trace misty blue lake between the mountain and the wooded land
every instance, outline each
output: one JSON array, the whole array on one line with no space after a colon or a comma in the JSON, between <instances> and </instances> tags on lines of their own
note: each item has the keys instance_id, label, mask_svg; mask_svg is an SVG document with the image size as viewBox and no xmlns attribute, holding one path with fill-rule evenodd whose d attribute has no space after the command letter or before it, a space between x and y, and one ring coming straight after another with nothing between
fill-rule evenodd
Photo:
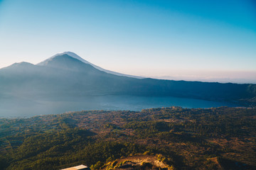
<instances>
[{"instance_id":1,"label":"misty blue lake between the mountain and the wooded land","mask_svg":"<svg viewBox=\"0 0 256 170\"><path fill-rule=\"evenodd\" d=\"M144 108L181 106L183 108L211 108L220 106L235 107L233 103L204 101L192 98L141 97L141 96L73 96L50 100L29 100L27 98L0 99L0 117L31 117L34 115L58 114L82 110L129 110L141 111Z\"/></svg>"}]
</instances>

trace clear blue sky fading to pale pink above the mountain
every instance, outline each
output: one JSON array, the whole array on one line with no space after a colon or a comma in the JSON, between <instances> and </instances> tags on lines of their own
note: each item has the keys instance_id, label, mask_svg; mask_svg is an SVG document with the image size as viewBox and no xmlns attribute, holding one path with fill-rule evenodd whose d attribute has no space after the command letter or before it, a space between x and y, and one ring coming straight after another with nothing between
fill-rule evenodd
<instances>
[{"instance_id":1,"label":"clear blue sky fading to pale pink above the mountain","mask_svg":"<svg viewBox=\"0 0 256 170\"><path fill-rule=\"evenodd\" d=\"M256 82L256 1L0 0L0 68L65 51L125 74Z\"/></svg>"}]
</instances>

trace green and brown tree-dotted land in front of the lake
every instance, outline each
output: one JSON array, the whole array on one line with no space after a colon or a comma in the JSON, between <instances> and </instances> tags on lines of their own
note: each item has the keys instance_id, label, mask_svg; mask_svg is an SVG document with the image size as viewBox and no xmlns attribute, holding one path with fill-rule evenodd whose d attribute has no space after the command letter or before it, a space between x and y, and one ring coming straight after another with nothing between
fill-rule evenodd
<instances>
[{"instance_id":1,"label":"green and brown tree-dotted land in front of the lake","mask_svg":"<svg viewBox=\"0 0 256 170\"><path fill-rule=\"evenodd\" d=\"M256 168L255 108L80 111L0 119L0 130L0 169L6 170L118 168L125 161L142 167L133 159L138 154L145 163L156 157L163 169ZM150 160L145 169L159 168Z\"/></svg>"}]
</instances>

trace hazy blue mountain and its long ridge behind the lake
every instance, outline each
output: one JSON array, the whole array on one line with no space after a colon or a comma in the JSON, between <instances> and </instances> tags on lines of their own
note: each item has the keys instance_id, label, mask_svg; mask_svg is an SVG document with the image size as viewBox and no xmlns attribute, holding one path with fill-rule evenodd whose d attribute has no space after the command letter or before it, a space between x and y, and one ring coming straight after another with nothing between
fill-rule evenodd
<instances>
[{"instance_id":1,"label":"hazy blue mountain and its long ridge behind the lake","mask_svg":"<svg viewBox=\"0 0 256 170\"><path fill-rule=\"evenodd\" d=\"M25 101L29 106L29 103L40 105L35 103L38 100L70 102L79 96L105 95L174 96L255 106L256 85L119 76L97 69L70 52L55 55L36 65L21 62L0 69L0 108L6 106L6 100L11 107L14 101L22 107Z\"/></svg>"}]
</instances>

